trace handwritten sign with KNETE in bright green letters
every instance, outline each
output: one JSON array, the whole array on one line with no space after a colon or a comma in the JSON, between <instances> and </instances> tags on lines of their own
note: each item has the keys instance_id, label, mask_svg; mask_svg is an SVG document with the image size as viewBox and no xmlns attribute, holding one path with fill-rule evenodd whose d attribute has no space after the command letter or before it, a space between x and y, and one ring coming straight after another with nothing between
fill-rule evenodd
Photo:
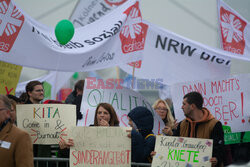
<instances>
[{"instance_id":1,"label":"handwritten sign with KNETE in bright green letters","mask_svg":"<svg viewBox=\"0 0 250 167\"><path fill-rule=\"evenodd\" d=\"M211 139L156 136L152 166L211 167L212 148Z\"/></svg>"}]
</instances>

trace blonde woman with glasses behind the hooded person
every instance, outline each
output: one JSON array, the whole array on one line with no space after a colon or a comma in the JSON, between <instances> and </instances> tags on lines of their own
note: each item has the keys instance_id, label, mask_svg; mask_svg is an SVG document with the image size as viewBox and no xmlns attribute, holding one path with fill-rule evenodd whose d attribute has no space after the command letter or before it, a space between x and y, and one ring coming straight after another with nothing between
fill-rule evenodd
<instances>
[{"instance_id":1,"label":"blonde woman with glasses behind the hooded person","mask_svg":"<svg viewBox=\"0 0 250 167\"><path fill-rule=\"evenodd\" d=\"M165 123L165 127L162 129L163 134L167 135L172 132L172 129L176 129L178 124L176 124L170 107L165 100L156 100L152 107Z\"/></svg>"}]
</instances>

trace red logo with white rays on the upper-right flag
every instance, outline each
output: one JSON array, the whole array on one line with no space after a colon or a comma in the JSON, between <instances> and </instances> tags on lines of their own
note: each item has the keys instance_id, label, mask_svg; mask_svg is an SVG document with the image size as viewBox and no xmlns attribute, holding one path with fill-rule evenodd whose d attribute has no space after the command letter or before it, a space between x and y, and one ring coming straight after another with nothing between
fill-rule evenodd
<instances>
[{"instance_id":1,"label":"red logo with white rays on the upper-right flag","mask_svg":"<svg viewBox=\"0 0 250 167\"><path fill-rule=\"evenodd\" d=\"M220 8L220 28L223 48L229 52L244 54L244 29L246 22L234 13Z\"/></svg>"}]
</instances>

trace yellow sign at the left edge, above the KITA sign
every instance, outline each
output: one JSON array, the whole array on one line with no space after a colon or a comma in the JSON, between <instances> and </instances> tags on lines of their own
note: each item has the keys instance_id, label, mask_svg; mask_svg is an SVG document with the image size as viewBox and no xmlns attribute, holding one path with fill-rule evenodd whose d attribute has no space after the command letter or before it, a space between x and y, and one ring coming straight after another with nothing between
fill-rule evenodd
<instances>
[{"instance_id":1,"label":"yellow sign at the left edge, above the KITA sign","mask_svg":"<svg viewBox=\"0 0 250 167\"><path fill-rule=\"evenodd\" d=\"M0 61L0 94L15 94L22 66Z\"/></svg>"}]
</instances>

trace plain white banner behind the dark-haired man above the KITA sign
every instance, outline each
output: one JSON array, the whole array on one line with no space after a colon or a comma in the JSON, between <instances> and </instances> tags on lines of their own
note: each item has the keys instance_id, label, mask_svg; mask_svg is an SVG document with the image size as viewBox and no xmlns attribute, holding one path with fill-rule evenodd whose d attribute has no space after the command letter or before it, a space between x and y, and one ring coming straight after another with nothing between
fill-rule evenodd
<instances>
[{"instance_id":1,"label":"plain white banner behind the dark-haired man above the KITA sign","mask_svg":"<svg viewBox=\"0 0 250 167\"><path fill-rule=\"evenodd\" d=\"M72 77L73 72L58 72L50 71L48 75L32 79L30 81L38 80L40 82L47 82L50 84L51 95L50 99L56 100L56 94L65 85L65 83ZM25 87L30 81L21 82L17 85L16 96L19 97L23 92L26 92ZM45 101L46 99L44 99Z\"/></svg>"}]
</instances>

